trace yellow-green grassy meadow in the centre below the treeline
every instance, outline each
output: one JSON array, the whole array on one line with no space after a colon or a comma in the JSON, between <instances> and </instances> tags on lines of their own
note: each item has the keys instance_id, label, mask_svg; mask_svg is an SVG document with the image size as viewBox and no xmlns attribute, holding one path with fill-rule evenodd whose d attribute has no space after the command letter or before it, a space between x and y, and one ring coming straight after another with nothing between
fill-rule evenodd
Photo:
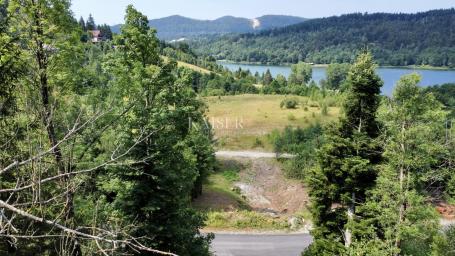
<instances>
[{"instance_id":1,"label":"yellow-green grassy meadow in the centre below the treeline","mask_svg":"<svg viewBox=\"0 0 455 256\"><path fill-rule=\"evenodd\" d=\"M280 108L280 103L290 98L299 102L297 108ZM273 130L327 123L336 120L340 114L336 102L327 104L333 101L330 98L318 102L301 96L245 94L204 99L209 107L208 121L218 140L218 149L271 150L273 146L267 134ZM328 105L327 113L322 113L324 104Z\"/></svg>"}]
</instances>

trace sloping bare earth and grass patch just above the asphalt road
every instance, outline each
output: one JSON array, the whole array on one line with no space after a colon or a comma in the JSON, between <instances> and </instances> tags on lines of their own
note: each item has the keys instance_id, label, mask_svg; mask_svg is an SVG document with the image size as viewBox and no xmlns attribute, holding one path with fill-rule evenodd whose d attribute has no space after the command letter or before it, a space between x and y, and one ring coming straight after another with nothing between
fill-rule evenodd
<instances>
[{"instance_id":1,"label":"sloping bare earth and grass patch just above the asphalt road","mask_svg":"<svg viewBox=\"0 0 455 256\"><path fill-rule=\"evenodd\" d=\"M193 206L208 214L204 232L307 233L311 221L302 182L284 177L273 158L218 157L218 171Z\"/></svg>"}]
</instances>

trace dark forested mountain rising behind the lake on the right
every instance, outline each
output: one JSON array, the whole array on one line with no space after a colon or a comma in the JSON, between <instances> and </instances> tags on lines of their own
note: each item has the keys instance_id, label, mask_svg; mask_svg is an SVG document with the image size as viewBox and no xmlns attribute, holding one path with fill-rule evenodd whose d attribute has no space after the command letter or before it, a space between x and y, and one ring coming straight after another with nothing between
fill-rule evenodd
<instances>
[{"instance_id":1,"label":"dark forested mountain rising behind the lake on the right","mask_svg":"<svg viewBox=\"0 0 455 256\"><path fill-rule=\"evenodd\" d=\"M454 67L455 9L355 13L194 44L197 53L217 59L274 64L352 62L366 47L382 65Z\"/></svg>"}]
</instances>

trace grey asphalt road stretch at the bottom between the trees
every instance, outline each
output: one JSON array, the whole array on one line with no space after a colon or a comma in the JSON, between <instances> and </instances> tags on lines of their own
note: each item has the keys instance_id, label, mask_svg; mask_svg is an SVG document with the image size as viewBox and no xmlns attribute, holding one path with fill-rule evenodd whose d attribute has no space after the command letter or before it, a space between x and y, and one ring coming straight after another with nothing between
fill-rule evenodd
<instances>
[{"instance_id":1,"label":"grey asphalt road stretch at the bottom between the trees","mask_svg":"<svg viewBox=\"0 0 455 256\"><path fill-rule=\"evenodd\" d=\"M215 234L216 256L300 256L312 242L309 234Z\"/></svg>"}]
</instances>

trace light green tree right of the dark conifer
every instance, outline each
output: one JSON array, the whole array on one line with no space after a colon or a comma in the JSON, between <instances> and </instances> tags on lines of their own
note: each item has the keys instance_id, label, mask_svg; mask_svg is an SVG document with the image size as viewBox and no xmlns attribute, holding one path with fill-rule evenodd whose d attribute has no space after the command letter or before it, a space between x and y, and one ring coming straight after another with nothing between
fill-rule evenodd
<instances>
[{"instance_id":1,"label":"light green tree right of the dark conifer","mask_svg":"<svg viewBox=\"0 0 455 256\"><path fill-rule=\"evenodd\" d=\"M446 176L440 163L448 154L447 113L419 88L420 80L418 74L403 76L380 111L384 164L361 211L368 216L365 224L375 227L373 237L387 248L384 255L429 255L439 229L435 211L426 203L430 191L424 188L434 182L427 177Z\"/></svg>"}]
</instances>

